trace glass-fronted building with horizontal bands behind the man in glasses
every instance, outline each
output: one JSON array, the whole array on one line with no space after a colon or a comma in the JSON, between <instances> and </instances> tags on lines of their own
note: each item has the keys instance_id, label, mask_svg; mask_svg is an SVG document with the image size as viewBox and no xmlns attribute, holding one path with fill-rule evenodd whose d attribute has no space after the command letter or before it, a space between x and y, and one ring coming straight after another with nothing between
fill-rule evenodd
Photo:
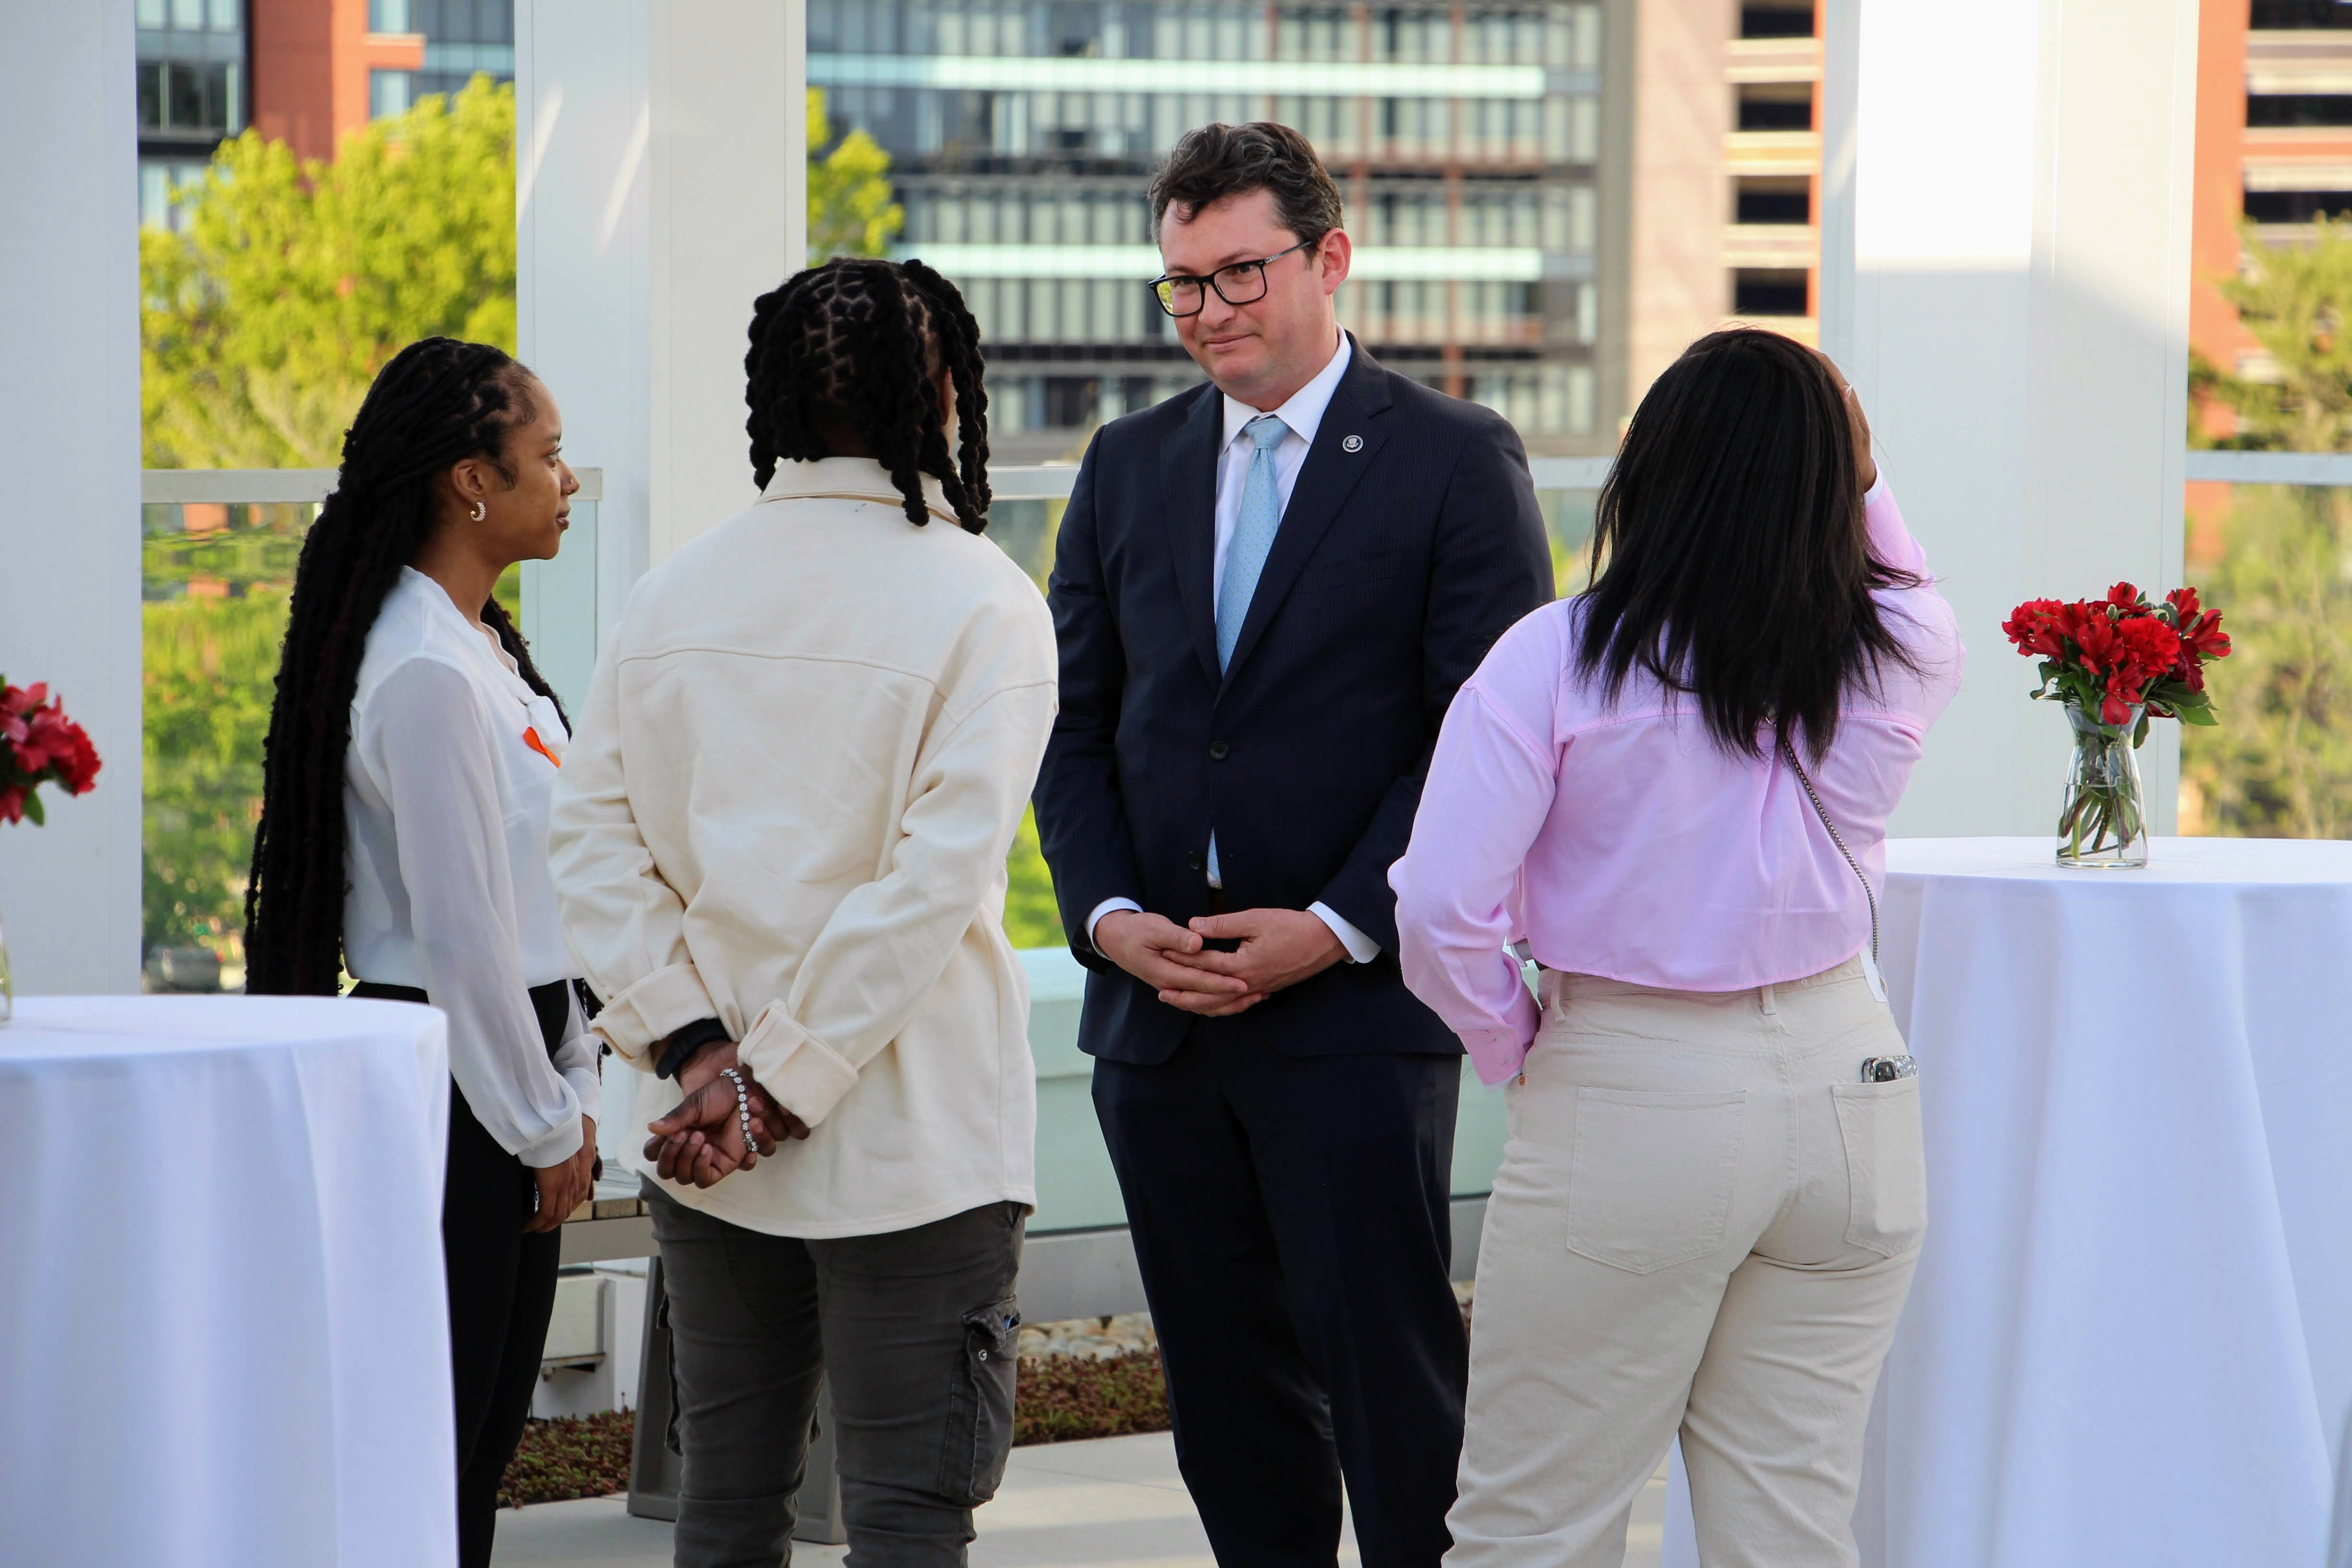
<instances>
[{"instance_id":1,"label":"glass-fronted building with horizontal bands behind the man in glasses","mask_svg":"<svg viewBox=\"0 0 2352 1568\"><path fill-rule=\"evenodd\" d=\"M1197 381L1141 287L1143 195L1209 120L1315 141L1357 240L1341 317L1385 364L1531 451L1609 444L1592 0L809 0L809 85L889 150L898 254L971 301L1002 458L1070 458Z\"/></svg>"}]
</instances>

